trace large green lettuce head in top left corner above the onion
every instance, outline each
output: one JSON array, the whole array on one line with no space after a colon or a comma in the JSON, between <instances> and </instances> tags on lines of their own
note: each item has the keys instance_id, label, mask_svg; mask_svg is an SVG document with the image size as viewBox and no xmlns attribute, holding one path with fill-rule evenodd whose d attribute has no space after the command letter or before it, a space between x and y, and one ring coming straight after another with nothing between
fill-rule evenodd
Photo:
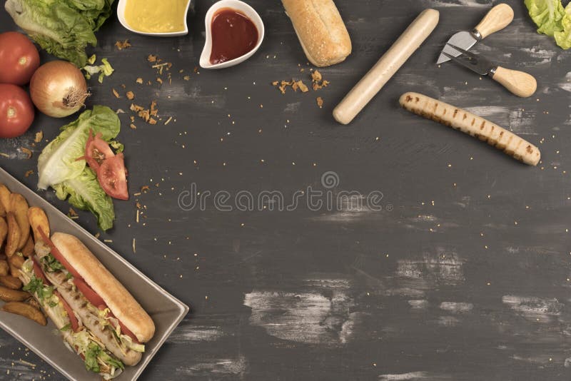
<instances>
[{"instance_id":1,"label":"large green lettuce head in top left corner above the onion","mask_svg":"<svg viewBox=\"0 0 571 381\"><path fill-rule=\"evenodd\" d=\"M48 53L78 67L86 65L86 46L111 15L113 0L7 0L14 22Z\"/></svg>"}]
</instances>

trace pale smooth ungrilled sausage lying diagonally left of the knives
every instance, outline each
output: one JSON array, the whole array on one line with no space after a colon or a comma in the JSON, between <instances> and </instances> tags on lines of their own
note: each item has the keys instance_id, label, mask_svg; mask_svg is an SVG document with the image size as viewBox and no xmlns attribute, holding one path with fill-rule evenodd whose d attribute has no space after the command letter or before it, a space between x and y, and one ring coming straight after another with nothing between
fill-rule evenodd
<instances>
[{"instance_id":1,"label":"pale smooth ungrilled sausage lying diagonally left of the knives","mask_svg":"<svg viewBox=\"0 0 571 381\"><path fill-rule=\"evenodd\" d=\"M375 66L361 78L333 110L336 121L348 124L380 91L385 83L398 71L430 36L438 24L440 14L434 9L425 9L400 35L395 44L383 54Z\"/></svg>"}]
</instances>

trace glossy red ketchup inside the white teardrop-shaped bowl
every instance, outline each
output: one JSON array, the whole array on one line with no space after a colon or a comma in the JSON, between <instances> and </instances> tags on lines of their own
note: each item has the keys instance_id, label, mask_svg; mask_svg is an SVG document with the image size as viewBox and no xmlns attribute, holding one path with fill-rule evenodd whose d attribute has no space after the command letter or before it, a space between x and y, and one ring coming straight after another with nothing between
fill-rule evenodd
<instances>
[{"instance_id":1,"label":"glossy red ketchup inside the white teardrop-shaped bowl","mask_svg":"<svg viewBox=\"0 0 571 381\"><path fill-rule=\"evenodd\" d=\"M211 64L237 59L258 44L258 29L248 16L236 9L218 9L212 18L211 32Z\"/></svg>"}]
</instances>

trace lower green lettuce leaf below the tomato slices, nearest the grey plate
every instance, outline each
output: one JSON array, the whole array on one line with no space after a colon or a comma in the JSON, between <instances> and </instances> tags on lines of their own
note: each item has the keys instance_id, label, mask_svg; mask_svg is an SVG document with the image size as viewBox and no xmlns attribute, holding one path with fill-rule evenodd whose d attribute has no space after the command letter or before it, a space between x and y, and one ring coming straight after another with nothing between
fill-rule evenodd
<instances>
[{"instance_id":1,"label":"lower green lettuce leaf below the tomato slices, nearest the grey plate","mask_svg":"<svg viewBox=\"0 0 571 381\"><path fill-rule=\"evenodd\" d=\"M60 200L66 200L69 197L68 202L71 205L94 213L101 230L113 228L113 220L115 220L113 200L103 191L91 168L84 167L79 176L56 184L53 188Z\"/></svg>"}]
</instances>

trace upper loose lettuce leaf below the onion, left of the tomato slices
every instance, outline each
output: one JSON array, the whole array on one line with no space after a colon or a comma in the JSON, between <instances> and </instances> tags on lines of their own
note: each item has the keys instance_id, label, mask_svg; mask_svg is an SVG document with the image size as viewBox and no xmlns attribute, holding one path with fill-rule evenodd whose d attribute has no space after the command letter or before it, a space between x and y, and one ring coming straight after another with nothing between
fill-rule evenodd
<instances>
[{"instance_id":1,"label":"upper loose lettuce leaf below the onion, left of the tomato slices","mask_svg":"<svg viewBox=\"0 0 571 381\"><path fill-rule=\"evenodd\" d=\"M86 167L85 145L89 130L100 132L102 138L111 141L121 129L117 114L107 106L94 106L93 110L81 113L76 121L61 127L62 132L51 141L38 158L38 188L71 180L79 176Z\"/></svg>"}]
</instances>

